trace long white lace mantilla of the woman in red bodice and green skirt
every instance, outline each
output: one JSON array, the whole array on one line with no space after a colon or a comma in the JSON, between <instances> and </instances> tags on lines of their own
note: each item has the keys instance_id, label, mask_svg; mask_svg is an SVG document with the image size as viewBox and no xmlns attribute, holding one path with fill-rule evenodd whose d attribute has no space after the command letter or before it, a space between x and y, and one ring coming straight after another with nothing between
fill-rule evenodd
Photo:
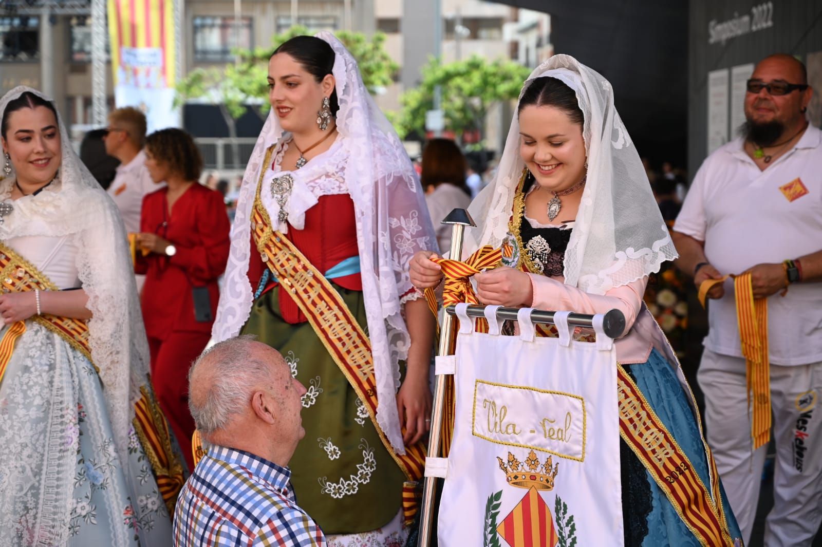
<instances>
[{"instance_id":1,"label":"long white lace mantilla of the woman in red bodice and green skirt","mask_svg":"<svg viewBox=\"0 0 822 547\"><path fill-rule=\"evenodd\" d=\"M349 158L343 175L357 216L363 296L376 375L376 420L395 450L404 453L395 397L398 361L408 356L410 338L400 296L413 288L408 273L411 256L416 251L436 250L436 237L411 160L363 85L357 62L333 34L324 31L316 37L330 44L335 53L337 139ZM242 177L225 287L212 332L216 342L237 336L251 313L253 293L247 272L256 185L261 169L270 168L263 164L266 150L289 138L272 109Z\"/></svg>"}]
</instances>

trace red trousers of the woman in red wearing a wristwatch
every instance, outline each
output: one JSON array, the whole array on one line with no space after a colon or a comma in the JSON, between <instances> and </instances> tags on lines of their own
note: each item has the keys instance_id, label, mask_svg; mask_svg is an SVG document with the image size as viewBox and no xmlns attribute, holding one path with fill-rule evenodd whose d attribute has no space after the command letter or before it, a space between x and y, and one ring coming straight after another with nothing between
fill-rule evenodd
<instances>
[{"instance_id":1,"label":"red trousers of the woman in red wearing a wristwatch","mask_svg":"<svg viewBox=\"0 0 822 547\"><path fill-rule=\"evenodd\" d=\"M188 369L205 349L209 338L209 333L191 332L173 332L165 340L149 337L151 384L189 471L194 470L192 434L195 426L188 411Z\"/></svg>"}]
</instances>

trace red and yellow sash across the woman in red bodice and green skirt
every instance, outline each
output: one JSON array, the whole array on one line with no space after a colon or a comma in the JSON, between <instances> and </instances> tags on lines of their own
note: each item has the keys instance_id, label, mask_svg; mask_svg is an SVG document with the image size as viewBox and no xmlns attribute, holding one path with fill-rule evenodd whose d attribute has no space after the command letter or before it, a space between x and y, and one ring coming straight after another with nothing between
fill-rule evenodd
<instances>
[{"instance_id":1,"label":"red and yellow sash across the woman in red bodice and green skirt","mask_svg":"<svg viewBox=\"0 0 822 547\"><path fill-rule=\"evenodd\" d=\"M271 149L264 165L270 162ZM382 444L409 480L404 487L405 517L413 518L416 508L407 503L413 492L413 483L425 471L425 447L422 442L405 447L405 454L396 453L376 422L376 377L371 342L358 324L339 292L302 255L288 238L275 231L266 208L261 204L262 177L257 185L252 211L252 233L263 263L279 283L289 290L293 300L312 325L317 337L349 380L349 384L364 403L368 415L379 434ZM410 483L410 485L409 485Z\"/></svg>"}]
</instances>

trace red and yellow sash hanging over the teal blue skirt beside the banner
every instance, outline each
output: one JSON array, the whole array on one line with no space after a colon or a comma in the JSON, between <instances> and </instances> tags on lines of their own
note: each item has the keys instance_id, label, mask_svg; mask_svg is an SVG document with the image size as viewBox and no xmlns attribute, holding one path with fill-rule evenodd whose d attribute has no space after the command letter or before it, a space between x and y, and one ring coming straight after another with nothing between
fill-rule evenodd
<instances>
[{"instance_id":1,"label":"red and yellow sash hanging over the teal blue skirt beside the banner","mask_svg":"<svg viewBox=\"0 0 822 547\"><path fill-rule=\"evenodd\" d=\"M622 439L653 476L682 522L701 545L732 547L710 449L705 447L711 472L709 492L686 453L621 366L617 369L617 401Z\"/></svg>"}]
</instances>

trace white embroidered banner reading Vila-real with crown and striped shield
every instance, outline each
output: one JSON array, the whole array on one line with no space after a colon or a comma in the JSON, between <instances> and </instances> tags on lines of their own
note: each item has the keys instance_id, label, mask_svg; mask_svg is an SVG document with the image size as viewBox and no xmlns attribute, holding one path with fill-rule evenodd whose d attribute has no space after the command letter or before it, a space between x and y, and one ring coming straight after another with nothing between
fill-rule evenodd
<instances>
[{"instance_id":1,"label":"white embroidered banner reading Vila-real with crown and striped shield","mask_svg":"<svg viewBox=\"0 0 822 547\"><path fill-rule=\"evenodd\" d=\"M527 324L523 337L466 333L461 323L440 545L621 547L610 340L531 338Z\"/></svg>"}]
</instances>

